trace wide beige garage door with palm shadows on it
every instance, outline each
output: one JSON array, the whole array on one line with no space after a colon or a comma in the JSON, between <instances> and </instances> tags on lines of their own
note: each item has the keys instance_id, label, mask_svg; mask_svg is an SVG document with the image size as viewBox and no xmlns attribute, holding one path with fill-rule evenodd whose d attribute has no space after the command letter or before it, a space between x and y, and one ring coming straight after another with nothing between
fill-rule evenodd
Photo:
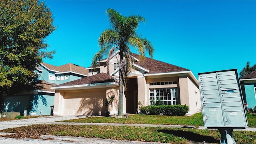
<instances>
[{"instance_id":1,"label":"wide beige garage door with palm shadows on it","mask_svg":"<svg viewBox=\"0 0 256 144\"><path fill-rule=\"evenodd\" d=\"M65 93L63 115L101 115L105 98L106 90Z\"/></svg>"}]
</instances>

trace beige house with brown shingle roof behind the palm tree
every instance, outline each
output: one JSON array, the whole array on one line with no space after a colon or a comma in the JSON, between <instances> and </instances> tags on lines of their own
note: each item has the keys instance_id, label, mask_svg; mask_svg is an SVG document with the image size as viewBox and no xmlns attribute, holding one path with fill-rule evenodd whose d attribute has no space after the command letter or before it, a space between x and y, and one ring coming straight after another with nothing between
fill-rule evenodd
<instances>
[{"instance_id":1,"label":"beige house with brown shingle roof behind the palm tree","mask_svg":"<svg viewBox=\"0 0 256 144\"><path fill-rule=\"evenodd\" d=\"M110 57L109 74L106 59L96 69L87 68L89 77L51 87L55 90L54 112L60 115L104 115L118 113L119 51ZM133 69L123 95L125 113L136 113L138 104L147 106L161 100L165 105L186 104L188 115L200 112L198 80L191 70L133 54ZM97 74L95 74L95 72ZM105 100L115 100L106 109Z\"/></svg>"}]
</instances>

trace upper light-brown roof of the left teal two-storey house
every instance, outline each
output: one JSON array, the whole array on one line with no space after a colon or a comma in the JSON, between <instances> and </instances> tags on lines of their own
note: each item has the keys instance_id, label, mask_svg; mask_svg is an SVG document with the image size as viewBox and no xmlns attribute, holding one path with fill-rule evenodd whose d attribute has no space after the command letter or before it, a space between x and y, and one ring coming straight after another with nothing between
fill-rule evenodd
<instances>
[{"instance_id":1,"label":"upper light-brown roof of the left teal two-storey house","mask_svg":"<svg viewBox=\"0 0 256 144\"><path fill-rule=\"evenodd\" d=\"M76 64L68 63L61 66L54 66L51 64L42 63L44 66L46 66L50 70L55 70L58 72L76 72L79 74L84 74L88 76L88 70L82 66L78 66Z\"/></svg>"}]
</instances>

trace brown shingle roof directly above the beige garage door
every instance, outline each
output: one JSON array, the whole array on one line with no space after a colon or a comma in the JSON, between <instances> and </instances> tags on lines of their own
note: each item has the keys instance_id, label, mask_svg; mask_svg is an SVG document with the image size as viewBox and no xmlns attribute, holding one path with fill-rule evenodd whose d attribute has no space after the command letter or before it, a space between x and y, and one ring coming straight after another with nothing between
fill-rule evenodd
<instances>
[{"instance_id":1,"label":"brown shingle roof directly above the beige garage door","mask_svg":"<svg viewBox=\"0 0 256 144\"><path fill-rule=\"evenodd\" d=\"M71 82L66 82L64 84L59 84L59 85L53 86L53 87L76 86L76 85L83 85L83 84L97 84L97 83L104 83L104 82L117 82L117 81L114 80L114 77L109 76L106 73L100 73L100 74L96 74L96 75L93 75L93 76L80 78L78 80L74 80L74 81L71 81Z\"/></svg>"}]
</instances>

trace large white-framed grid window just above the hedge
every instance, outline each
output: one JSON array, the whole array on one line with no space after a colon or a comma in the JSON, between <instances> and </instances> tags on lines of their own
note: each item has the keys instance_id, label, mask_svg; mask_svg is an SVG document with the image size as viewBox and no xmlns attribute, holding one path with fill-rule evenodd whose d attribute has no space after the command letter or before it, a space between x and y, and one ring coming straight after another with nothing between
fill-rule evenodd
<instances>
[{"instance_id":1,"label":"large white-framed grid window just above the hedge","mask_svg":"<svg viewBox=\"0 0 256 144\"><path fill-rule=\"evenodd\" d=\"M151 105L162 101L164 105L178 104L177 88L151 88L150 101Z\"/></svg>"}]
</instances>

